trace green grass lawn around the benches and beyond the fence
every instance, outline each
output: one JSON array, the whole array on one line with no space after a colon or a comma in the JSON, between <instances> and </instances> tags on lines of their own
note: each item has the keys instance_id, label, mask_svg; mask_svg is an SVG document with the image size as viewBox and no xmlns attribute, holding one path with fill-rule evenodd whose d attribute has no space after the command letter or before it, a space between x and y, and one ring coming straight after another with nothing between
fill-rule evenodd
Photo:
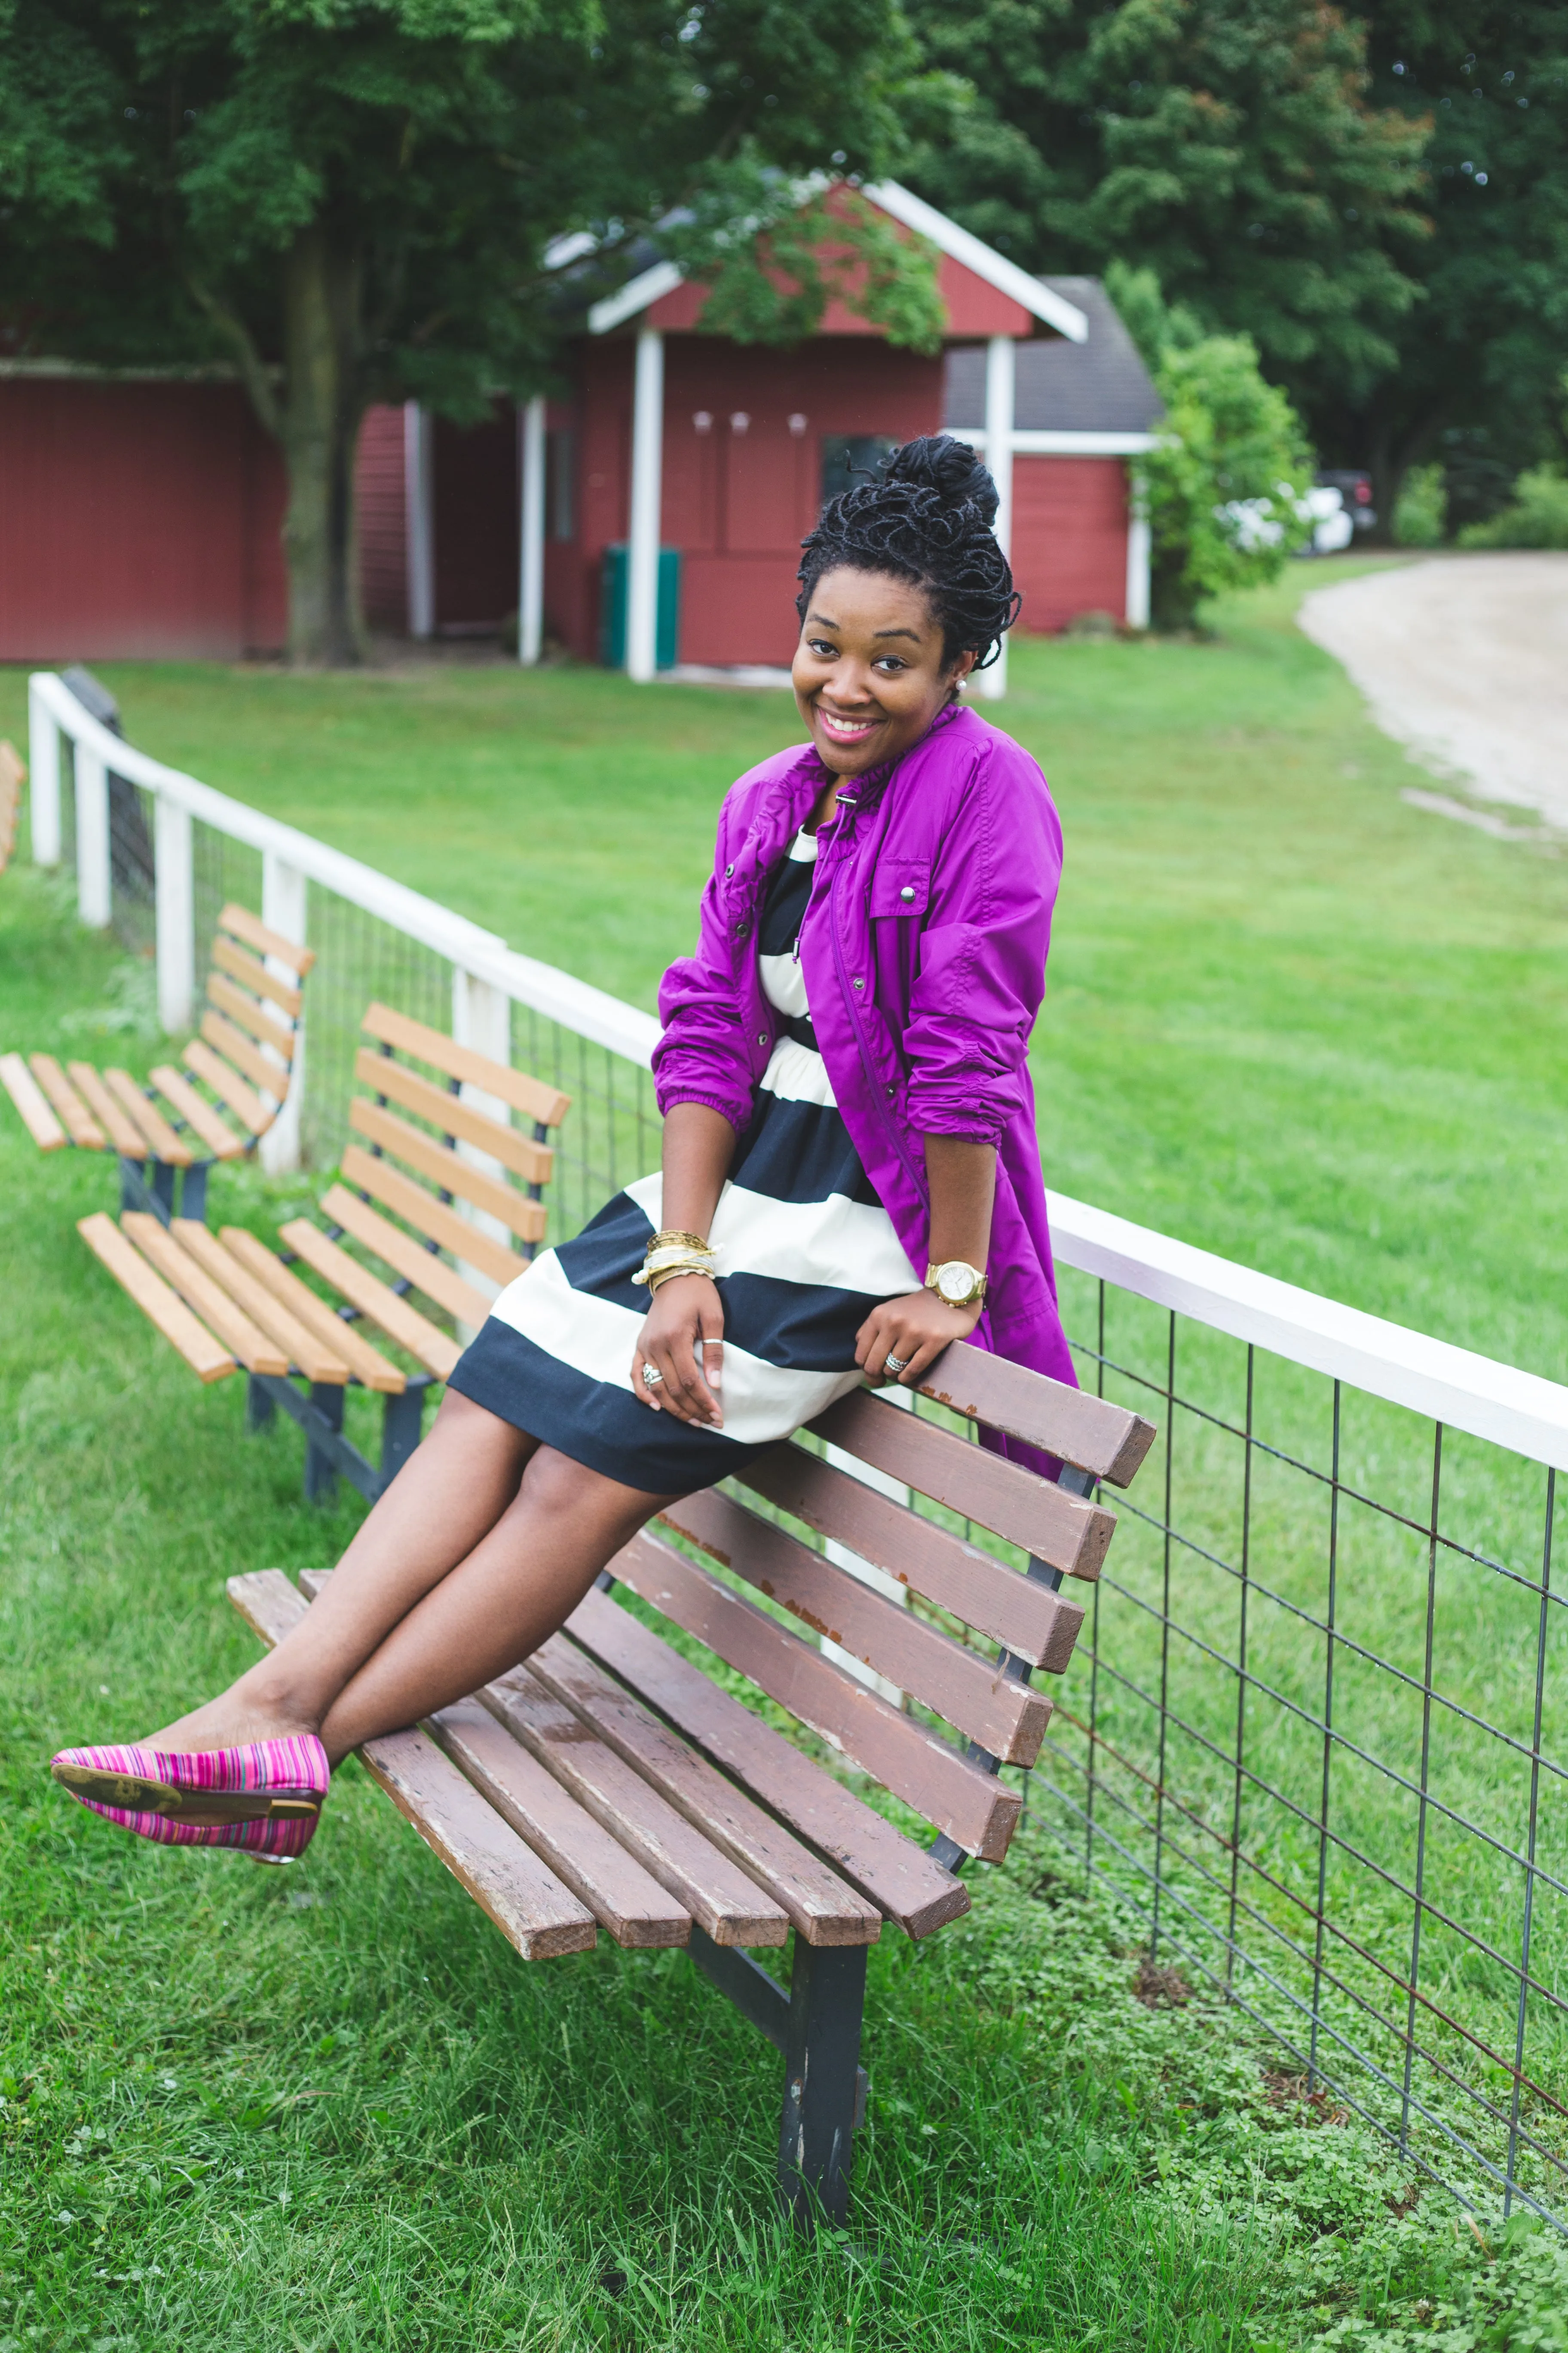
<instances>
[{"instance_id":1,"label":"green grass lawn around the benches and beyond the fence","mask_svg":"<svg viewBox=\"0 0 1568 2353\"><path fill-rule=\"evenodd\" d=\"M1563 1377L1568 875L1401 805L1291 626L1326 569L1213 645L1013 656L999 715L1067 828L1048 1179ZM148 751L642 1005L724 786L792 732L780 696L585 671L103 675ZM14 868L0 1047L99 1052L122 962ZM263 1226L310 1193L221 1184ZM235 1673L223 1577L355 1518L103 1282L71 1224L108 1191L0 1108L0 2353L1556 2341L1544 2240L1408 2207L1232 2012L1145 2007L1133 1922L1044 1840L872 1955L856 2233L806 2249L769 2217L776 2057L684 1958L520 1965L355 1767L294 1873L71 1809L42 1758Z\"/></svg>"}]
</instances>

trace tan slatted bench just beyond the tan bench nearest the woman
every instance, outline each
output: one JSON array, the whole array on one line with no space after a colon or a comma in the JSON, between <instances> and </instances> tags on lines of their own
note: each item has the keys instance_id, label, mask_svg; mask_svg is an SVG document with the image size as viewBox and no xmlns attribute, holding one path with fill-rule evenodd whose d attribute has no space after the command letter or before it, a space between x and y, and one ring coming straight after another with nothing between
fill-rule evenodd
<instances>
[{"instance_id":1,"label":"tan slatted bench just beyond the tan bench nearest the woman","mask_svg":"<svg viewBox=\"0 0 1568 2353\"><path fill-rule=\"evenodd\" d=\"M207 1214L214 1160L256 1148L289 1094L303 984L315 955L270 932L249 908L226 906L212 941L207 1009L181 1061L158 1064L146 1087L129 1071L54 1054L0 1054L0 1085L42 1153L75 1144L120 1155L120 1207L169 1224Z\"/></svg>"}]
</instances>

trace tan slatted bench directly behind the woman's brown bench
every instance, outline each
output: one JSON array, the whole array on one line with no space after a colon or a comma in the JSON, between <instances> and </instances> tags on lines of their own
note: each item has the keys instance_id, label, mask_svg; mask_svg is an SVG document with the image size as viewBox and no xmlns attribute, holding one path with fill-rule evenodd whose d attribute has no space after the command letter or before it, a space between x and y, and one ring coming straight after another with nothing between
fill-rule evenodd
<instances>
[{"instance_id":1,"label":"tan slatted bench directly behind the woman's brown bench","mask_svg":"<svg viewBox=\"0 0 1568 2353\"><path fill-rule=\"evenodd\" d=\"M136 1209L118 1224L85 1217L78 1233L197 1379L244 1367L247 1428L280 1407L301 1424L310 1499L329 1497L341 1471L374 1504L418 1445L425 1391L461 1355L451 1327L477 1329L543 1240L548 1134L571 1096L388 1005L371 1005L362 1028L371 1045L360 1047L355 1078L367 1092L348 1106L353 1141L322 1195L322 1224L280 1226L282 1252L242 1226L212 1233L188 1217L165 1226ZM512 1111L534 1120L531 1136L508 1122ZM360 1320L414 1369L353 1329ZM383 1398L376 1464L343 1435L350 1386Z\"/></svg>"}]
</instances>

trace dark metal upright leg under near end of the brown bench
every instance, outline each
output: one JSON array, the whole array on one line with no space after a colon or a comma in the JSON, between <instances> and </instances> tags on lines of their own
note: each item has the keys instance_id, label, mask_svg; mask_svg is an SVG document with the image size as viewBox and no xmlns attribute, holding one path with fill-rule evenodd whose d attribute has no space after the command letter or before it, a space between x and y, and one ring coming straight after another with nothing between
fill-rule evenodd
<instances>
[{"instance_id":1,"label":"dark metal upright leg under near end of the brown bench","mask_svg":"<svg viewBox=\"0 0 1568 2353\"><path fill-rule=\"evenodd\" d=\"M799 2231L811 2231L818 2214L842 2224L849 2209L853 2137L863 2122L865 1951L795 1939L778 2195Z\"/></svg>"}]
</instances>

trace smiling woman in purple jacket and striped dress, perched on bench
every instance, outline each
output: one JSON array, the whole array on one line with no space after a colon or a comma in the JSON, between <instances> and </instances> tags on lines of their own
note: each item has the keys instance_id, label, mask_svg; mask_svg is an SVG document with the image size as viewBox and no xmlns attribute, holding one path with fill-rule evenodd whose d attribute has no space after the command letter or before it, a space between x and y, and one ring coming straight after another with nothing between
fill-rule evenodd
<instances>
[{"instance_id":1,"label":"smiling woman in purple jacket and striped dress, perched on bench","mask_svg":"<svg viewBox=\"0 0 1568 2353\"><path fill-rule=\"evenodd\" d=\"M56 1758L82 1802L296 1854L339 1758L527 1659L644 1520L860 1379L912 1386L973 1339L1072 1381L1025 1064L1060 826L959 701L1018 602L994 513L950 440L827 504L799 574L811 741L731 788L661 991L661 1174L496 1299L261 1666L148 1741Z\"/></svg>"}]
</instances>

